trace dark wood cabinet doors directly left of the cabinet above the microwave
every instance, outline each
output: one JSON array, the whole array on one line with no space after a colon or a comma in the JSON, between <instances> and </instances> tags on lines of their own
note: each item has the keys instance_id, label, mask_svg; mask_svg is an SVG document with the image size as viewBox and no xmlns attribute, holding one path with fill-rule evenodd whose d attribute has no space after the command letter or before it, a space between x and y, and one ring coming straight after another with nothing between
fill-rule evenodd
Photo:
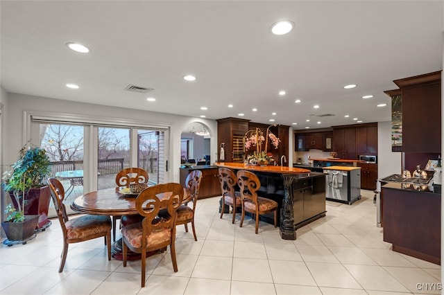
<instances>
[{"instance_id":1,"label":"dark wood cabinet doors directly left of the cabinet above the microwave","mask_svg":"<svg viewBox=\"0 0 444 295\"><path fill-rule=\"evenodd\" d=\"M355 125L333 127L333 152L341 159L357 159Z\"/></svg>"}]
</instances>

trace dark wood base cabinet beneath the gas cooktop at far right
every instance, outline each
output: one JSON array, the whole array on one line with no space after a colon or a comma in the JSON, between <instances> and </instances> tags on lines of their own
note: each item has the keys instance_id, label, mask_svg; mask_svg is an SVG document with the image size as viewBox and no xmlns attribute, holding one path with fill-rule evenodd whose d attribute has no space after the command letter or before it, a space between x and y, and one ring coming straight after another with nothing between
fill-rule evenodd
<instances>
[{"instance_id":1,"label":"dark wood base cabinet beneath the gas cooktop at far right","mask_svg":"<svg viewBox=\"0 0 444 295\"><path fill-rule=\"evenodd\" d=\"M382 186L384 241L392 250L441 265L441 193L432 186Z\"/></svg>"}]
</instances>

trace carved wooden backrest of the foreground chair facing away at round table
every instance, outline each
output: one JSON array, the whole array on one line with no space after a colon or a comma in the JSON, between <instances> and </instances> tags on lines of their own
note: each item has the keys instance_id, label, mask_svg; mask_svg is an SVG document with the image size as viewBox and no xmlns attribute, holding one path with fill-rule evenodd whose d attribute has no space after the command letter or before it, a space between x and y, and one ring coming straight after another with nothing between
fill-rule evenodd
<instances>
[{"instance_id":1,"label":"carved wooden backrest of the foreground chair facing away at round table","mask_svg":"<svg viewBox=\"0 0 444 295\"><path fill-rule=\"evenodd\" d=\"M137 213L144 216L143 236L146 237L157 229L170 229L173 236L176 229L176 211L182 199L181 184L157 184L143 190L136 199ZM167 217L157 217L160 210L167 212ZM146 247L146 238L142 238L143 247Z\"/></svg>"}]
</instances>

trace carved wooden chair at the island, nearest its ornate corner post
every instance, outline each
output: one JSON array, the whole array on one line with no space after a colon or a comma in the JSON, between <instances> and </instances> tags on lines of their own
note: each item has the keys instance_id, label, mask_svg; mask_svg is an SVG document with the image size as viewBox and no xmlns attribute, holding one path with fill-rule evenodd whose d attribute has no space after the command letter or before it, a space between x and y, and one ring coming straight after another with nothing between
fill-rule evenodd
<instances>
[{"instance_id":1,"label":"carved wooden chair at the island, nearest its ornate corner post","mask_svg":"<svg viewBox=\"0 0 444 295\"><path fill-rule=\"evenodd\" d=\"M259 178L250 171L239 170L237 172L237 184L241 188L242 216L241 224L244 223L245 213L255 215L256 233L259 229L259 215L274 211L274 225L278 220L278 203L272 199L266 199L257 195L257 190L261 187Z\"/></svg>"}]
</instances>

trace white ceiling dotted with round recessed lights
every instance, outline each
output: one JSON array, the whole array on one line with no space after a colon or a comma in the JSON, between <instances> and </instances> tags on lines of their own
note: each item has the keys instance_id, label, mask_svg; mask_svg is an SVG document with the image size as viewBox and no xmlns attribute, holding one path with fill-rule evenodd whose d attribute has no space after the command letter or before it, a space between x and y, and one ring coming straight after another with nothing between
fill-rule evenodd
<instances>
[{"instance_id":1,"label":"white ceiling dotted with round recessed lights","mask_svg":"<svg viewBox=\"0 0 444 295\"><path fill-rule=\"evenodd\" d=\"M393 80L443 65L443 1L1 0L0 9L6 91L186 116L244 113L296 128L387 121ZM282 19L296 28L271 34Z\"/></svg>"}]
</instances>

